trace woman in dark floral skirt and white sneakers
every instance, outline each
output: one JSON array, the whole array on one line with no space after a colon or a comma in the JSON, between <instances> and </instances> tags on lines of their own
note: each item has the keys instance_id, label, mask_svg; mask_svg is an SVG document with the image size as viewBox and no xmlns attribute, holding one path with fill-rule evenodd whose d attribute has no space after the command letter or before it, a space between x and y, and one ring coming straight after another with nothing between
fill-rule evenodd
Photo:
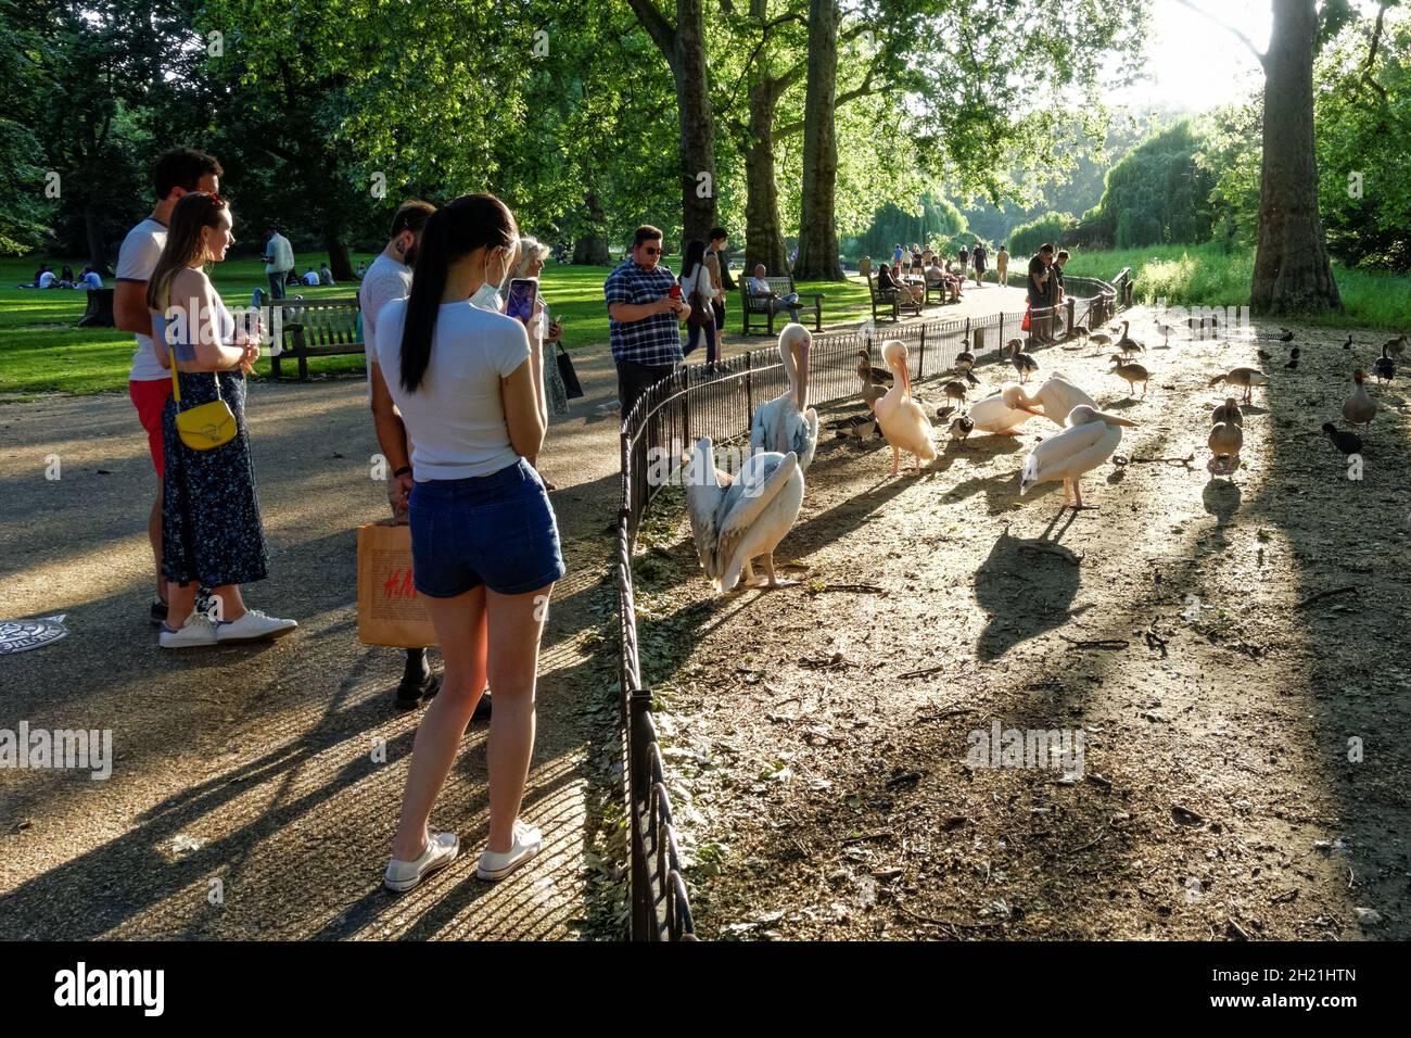
<instances>
[{"instance_id":1,"label":"woman in dark floral skirt and white sneakers","mask_svg":"<svg viewBox=\"0 0 1411 1038\"><path fill-rule=\"evenodd\" d=\"M181 402L174 397L162 407L162 572L169 582L162 648L278 638L299 626L250 609L240 592L265 579L268 565L246 432L244 376L260 357L260 339L234 338L236 321L203 270L226 258L236 240L231 227L220 195L182 195L147 282L154 339L169 352L171 377L181 383ZM207 451L186 446L178 411L217 400L234 415L234 438ZM210 587L213 617L196 612L198 585Z\"/></svg>"}]
</instances>

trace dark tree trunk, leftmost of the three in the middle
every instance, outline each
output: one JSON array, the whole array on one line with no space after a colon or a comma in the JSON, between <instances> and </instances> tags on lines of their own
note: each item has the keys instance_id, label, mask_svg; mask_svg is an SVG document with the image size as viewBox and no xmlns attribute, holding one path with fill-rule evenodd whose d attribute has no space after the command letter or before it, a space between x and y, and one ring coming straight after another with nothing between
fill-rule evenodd
<instances>
[{"instance_id":1,"label":"dark tree trunk, leftmost of the three in the middle","mask_svg":"<svg viewBox=\"0 0 1411 1038\"><path fill-rule=\"evenodd\" d=\"M676 0L676 107L682 127L682 229L708 240L715 226L715 121L706 75L703 0ZM683 246L684 251L684 246Z\"/></svg>"}]
</instances>

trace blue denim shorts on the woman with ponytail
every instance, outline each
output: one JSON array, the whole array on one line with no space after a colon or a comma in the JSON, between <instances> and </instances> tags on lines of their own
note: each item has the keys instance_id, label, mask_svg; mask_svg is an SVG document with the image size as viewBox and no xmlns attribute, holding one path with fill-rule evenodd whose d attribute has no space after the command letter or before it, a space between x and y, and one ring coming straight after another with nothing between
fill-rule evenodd
<instances>
[{"instance_id":1,"label":"blue denim shorts on the woman with ponytail","mask_svg":"<svg viewBox=\"0 0 1411 1038\"><path fill-rule=\"evenodd\" d=\"M523 595L563 576L549 494L522 458L490 476L418 483L409 513L420 595L453 599L481 585Z\"/></svg>"}]
</instances>

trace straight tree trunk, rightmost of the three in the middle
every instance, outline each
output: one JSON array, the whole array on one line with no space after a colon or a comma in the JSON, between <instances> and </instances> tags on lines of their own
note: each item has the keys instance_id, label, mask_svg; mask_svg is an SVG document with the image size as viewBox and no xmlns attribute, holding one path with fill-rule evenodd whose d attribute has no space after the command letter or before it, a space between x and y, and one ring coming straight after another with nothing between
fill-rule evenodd
<instances>
[{"instance_id":1,"label":"straight tree trunk, rightmost of the three in the middle","mask_svg":"<svg viewBox=\"0 0 1411 1038\"><path fill-rule=\"evenodd\" d=\"M809 86L804 96L803 203L799 213L796 278L842 281L834 202L838 138L834 110L838 86L837 0L809 3Z\"/></svg>"}]
</instances>

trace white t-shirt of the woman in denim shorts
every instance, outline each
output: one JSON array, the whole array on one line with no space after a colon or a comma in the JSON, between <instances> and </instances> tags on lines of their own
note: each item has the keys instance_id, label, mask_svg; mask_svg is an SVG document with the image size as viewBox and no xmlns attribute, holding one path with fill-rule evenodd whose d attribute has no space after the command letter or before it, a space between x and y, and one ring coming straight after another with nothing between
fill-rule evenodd
<instances>
[{"instance_id":1,"label":"white t-shirt of the woman in denim shorts","mask_svg":"<svg viewBox=\"0 0 1411 1038\"><path fill-rule=\"evenodd\" d=\"M443 302L416 393L402 387L406 302L378 314L377 363L412 441L416 482L490 476L519 460L509 445L499 380L529 360L525 326L468 302Z\"/></svg>"}]
</instances>

